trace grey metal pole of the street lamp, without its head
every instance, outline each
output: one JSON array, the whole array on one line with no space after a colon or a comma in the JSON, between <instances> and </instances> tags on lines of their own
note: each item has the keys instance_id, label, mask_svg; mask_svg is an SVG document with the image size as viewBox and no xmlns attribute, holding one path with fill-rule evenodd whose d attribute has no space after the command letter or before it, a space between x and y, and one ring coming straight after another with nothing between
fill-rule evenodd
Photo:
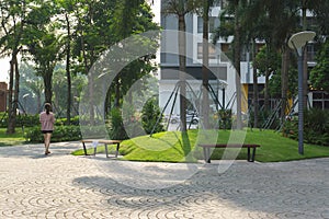
<instances>
[{"instance_id":1,"label":"grey metal pole of the street lamp, without its head","mask_svg":"<svg viewBox=\"0 0 329 219\"><path fill-rule=\"evenodd\" d=\"M303 59L304 53L298 55L298 152L304 154L304 96L303 96Z\"/></svg>"}]
</instances>

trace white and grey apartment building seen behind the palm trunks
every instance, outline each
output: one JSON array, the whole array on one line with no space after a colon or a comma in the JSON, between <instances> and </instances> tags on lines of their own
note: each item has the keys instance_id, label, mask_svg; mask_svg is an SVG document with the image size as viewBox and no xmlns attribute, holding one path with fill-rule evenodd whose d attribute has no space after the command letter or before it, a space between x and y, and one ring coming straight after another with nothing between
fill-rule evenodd
<instances>
[{"instance_id":1,"label":"white and grey apartment building seen behind the palm trunks","mask_svg":"<svg viewBox=\"0 0 329 219\"><path fill-rule=\"evenodd\" d=\"M173 14L163 13L163 1L161 1L161 21L160 24L164 31L174 32L178 31L178 18ZM214 7L211 10L209 16L209 42L214 30L220 25L218 14L223 10L223 3ZM315 25L310 13L307 13L308 25ZM188 82L191 89L188 89L188 96L191 90L200 97L202 88L202 56L203 56L203 20L195 13L185 15L186 24L186 74L189 76ZM232 37L219 38L216 45L209 46L209 84L214 93L219 101L220 106L231 108L236 112L236 70L232 67L231 61L225 56L231 48ZM260 48L263 42L259 42L257 47ZM177 50L172 53L175 48ZM172 91L179 81L179 56L178 56L178 34L172 34L170 37L166 36L161 39L161 56L160 56L160 83L159 83L159 105L163 108L167 103L172 105L170 96ZM307 45L307 65L308 71L316 65L315 55L316 47L314 44ZM170 53L168 53L170 51ZM253 78L252 78L252 60L250 53L245 49L241 55L240 62L240 81L242 85L242 113L248 113L253 99ZM259 91L264 89L265 79L264 77L258 77ZM192 96L192 95L191 95ZM192 99L190 96L190 99ZM189 99L189 97L188 97ZM209 97L212 99L212 97ZM168 101L171 102L168 102ZM212 101L212 100L211 100ZM297 101L296 97L291 101ZM275 107L277 100L271 100L271 107ZM259 92L259 104L263 105L264 96L263 92ZM309 88L308 93L308 106L329 108L329 94L319 90L313 90ZM170 113L171 107L166 108L166 114ZM297 111L297 108L295 108ZM179 101L173 106L173 114L179 114Z\"/></svg>"}]
</instances>

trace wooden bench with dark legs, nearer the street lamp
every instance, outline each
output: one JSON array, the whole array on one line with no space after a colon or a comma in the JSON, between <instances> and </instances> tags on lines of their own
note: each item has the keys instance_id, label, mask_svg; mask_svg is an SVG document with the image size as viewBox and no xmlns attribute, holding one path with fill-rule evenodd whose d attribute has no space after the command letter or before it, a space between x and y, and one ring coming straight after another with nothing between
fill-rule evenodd
<instances>
[{"instance_id":1,"label":"wooden bench with dark legs, nearer the street lamp","mask_svg":"<svg viewBox=\"0 0 329 219\"><path fill-rule=\"evenodd\" d=\"M203 148L204 160L206 163L211 163L211 148L247 148L248 157L247 161L253 162L256 149L260 147L260 145L239 145L239 143L214 143L214 145L198 145ZM250 149L252 148L252 154L250 154Z\"/></svg>"}]
</instances>

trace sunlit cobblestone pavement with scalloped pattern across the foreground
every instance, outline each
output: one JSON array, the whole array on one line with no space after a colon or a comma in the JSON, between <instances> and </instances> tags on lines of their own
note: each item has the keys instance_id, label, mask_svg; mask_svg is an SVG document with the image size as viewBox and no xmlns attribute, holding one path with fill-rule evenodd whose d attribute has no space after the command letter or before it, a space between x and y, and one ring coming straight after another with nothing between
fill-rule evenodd
<instances>
[{"instance_id":1,"label":"sunlit cobblestone pavement with scalloped pattern across the foreground","mask_svg":"<svg viewBox=\"0 0 329 219\"><path fill-rule=\"evenodd\" d=\"M329 159L140 163L0 148L0 218L329 218Z\"/></svg>"}]
</instances>

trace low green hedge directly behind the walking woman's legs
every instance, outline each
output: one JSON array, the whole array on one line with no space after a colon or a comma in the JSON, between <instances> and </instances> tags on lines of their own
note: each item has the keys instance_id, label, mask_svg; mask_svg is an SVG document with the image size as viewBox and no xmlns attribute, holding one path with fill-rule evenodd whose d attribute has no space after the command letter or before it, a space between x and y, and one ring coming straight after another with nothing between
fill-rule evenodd
<instances>
[{"instance_id":1,"label":"low green hedge directly behind the walking woman's legs","mask_svg":"<svg viewBox=\"0 0 329 219\"><path fill-rule=\"evenodd\" d=\"M29 142L44 142L44 136L41 132L41 127L35 126L30 128L24 137ZM52 142L80 140L81 131L79 126L56 126L52 136Z\"/></svg>"}]
</instances>

